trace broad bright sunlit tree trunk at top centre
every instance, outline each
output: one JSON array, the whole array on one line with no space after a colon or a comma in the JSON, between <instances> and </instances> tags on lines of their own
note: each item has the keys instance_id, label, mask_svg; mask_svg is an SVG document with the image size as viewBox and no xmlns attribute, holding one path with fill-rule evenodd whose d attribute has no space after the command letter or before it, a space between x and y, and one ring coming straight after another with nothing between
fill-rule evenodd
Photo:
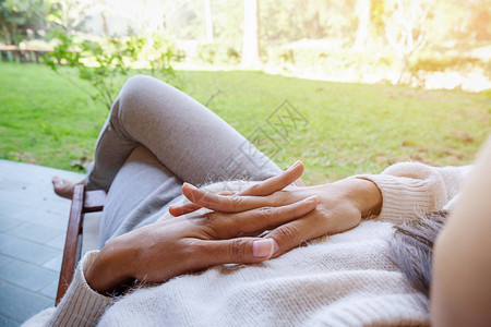
<instances>
[{"instance_id":1,"label":"broad bright sunlit tree trunk at top centre","mask_svg":"<svg viewBox=\"0 0 491 327\"><path fill-rule=\"evenodd\" d=\"M259 68L261 65L259 51L259 0L243 0L243 5L242 65Z\"/></svg>"}]
</instances>

